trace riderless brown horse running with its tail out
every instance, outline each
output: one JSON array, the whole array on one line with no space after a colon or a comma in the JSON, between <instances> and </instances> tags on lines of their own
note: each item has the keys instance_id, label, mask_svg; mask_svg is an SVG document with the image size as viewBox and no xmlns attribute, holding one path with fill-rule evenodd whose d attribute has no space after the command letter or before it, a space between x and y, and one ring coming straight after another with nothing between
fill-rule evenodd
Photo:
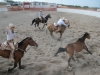
<instances>
[{"instance_id":1,"label":"riderless brown horse running with its tail out","mask_svg":"<svg viewBox=\"0 0 100 75\"><path fill-rule=\"evenodd\" d=\"M92 55L92 53L88 50L88 48L85 44L86 38L90 39L90 35L87 32L81 38L79 38L76 42L68 44L65 48L59 48L57 53L55 53L55 56L60 52L66 51L70 56L69 59L68 59L68 66L71 67L70 66L70 60L72 59L72 60L76 61L73 57L74 52L80 52L83 49L85 49L87 52L89 52Z\"/></svg>"}]
</instances>

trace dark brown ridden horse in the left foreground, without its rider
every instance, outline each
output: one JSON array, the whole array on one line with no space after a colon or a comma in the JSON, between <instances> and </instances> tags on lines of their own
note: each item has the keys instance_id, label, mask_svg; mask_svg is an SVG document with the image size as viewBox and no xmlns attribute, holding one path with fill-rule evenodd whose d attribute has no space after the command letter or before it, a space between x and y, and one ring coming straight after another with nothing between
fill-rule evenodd
<instances>
[{"instance_id":1,"label":"dark brown ridden horse in the left foreground, without its rider","mask_svg":"<svg viewBox=\"0 0 100 75\"><path fill-rule=\"evenodd\" d=\"M16 68L17 63L19 63L19 69L22 68L21 58L24 56L24 52L26 51L25 49L28 45L38 47L38 44L31 37L27 37L24 40L22 40L20 43L18 43L18 50L14 52L14 67L8 69L8 72ZM10 50L0 50L0 56L4 58L9 58L9 55L10 55Z\"/></svg>"}]
</instances>

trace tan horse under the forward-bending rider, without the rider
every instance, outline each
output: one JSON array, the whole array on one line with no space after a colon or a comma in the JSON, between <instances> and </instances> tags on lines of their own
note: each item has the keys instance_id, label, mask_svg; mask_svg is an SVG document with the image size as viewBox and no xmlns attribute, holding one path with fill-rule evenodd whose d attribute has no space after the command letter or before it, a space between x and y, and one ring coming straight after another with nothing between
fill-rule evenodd
<instances>
[{"instance_id":1,"label":"tan horse under the forward-bending rider, without the rider","mask_svg":"<svg viewBox=\"0 0 100 75\"><path fill-rule=\"evenodd\" d=\"M69 28L70 22L69 22L68 20L65 20L65 23L68 25L68 28ZM54 24L48 25L47 29L49 30L50 35L51 35L52 37L54 37L54 36L53 36L53 32L55 32L55 31L57 30L57 28L58 28L58 27L57 27L57 26L54 26ZM47 29L46 29L46 32L47 32ZM59 31L59 33L60 33L60 39L61 39L62 34L64 33L65 29L66 29L66 27L65 27L64 25L61 25L61 30Z\"/></svg>"}]
</instances>

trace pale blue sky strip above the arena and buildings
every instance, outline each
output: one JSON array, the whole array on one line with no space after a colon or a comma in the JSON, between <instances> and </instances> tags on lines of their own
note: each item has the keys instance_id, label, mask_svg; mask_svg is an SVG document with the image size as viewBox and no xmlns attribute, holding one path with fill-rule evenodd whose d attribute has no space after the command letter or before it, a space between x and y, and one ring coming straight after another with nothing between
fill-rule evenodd
<instances>
[{"instance_id":1,"label":"pale blue sky strip above the arena and buildings","mask_svg":"<svg viewBox=\"0 0 100 75\"><path fill-rule=\"evenodd\" d=\"M99 7L100 0L14 0L14 1L40 1L40 2L50 2L65 5L79 5L79 6L89 6L89 7Z\"/></svg>"}]
</instances>

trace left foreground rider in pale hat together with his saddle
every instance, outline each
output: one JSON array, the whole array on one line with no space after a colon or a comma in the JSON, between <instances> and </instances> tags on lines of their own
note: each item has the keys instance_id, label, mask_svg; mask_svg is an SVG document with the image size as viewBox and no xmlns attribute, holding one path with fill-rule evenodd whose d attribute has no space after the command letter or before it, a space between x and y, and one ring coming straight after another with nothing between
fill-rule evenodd
<instances>
[{"instance_id":1,"label":"left foreground rider in pale hat together with his saddle","mask_svg":"<svg viewBox=\"0 0 100 75\"><path fill-rule=\"evenodd\" d=\"M5 41L4 43L1 44L1 49L2 50L5 50L5 49L11 50L9 59L11 59L12 61L14 61L14 56L13 56L14 51L15 51L15 49L17 49L14 45L14 43L15 43L14 40L16 38L16 34L15 34L14 30L15 30L15 26L12 23L10 23L9 24L9 29L6 32L7 41Z\"/></svg>"}]
</instances>

